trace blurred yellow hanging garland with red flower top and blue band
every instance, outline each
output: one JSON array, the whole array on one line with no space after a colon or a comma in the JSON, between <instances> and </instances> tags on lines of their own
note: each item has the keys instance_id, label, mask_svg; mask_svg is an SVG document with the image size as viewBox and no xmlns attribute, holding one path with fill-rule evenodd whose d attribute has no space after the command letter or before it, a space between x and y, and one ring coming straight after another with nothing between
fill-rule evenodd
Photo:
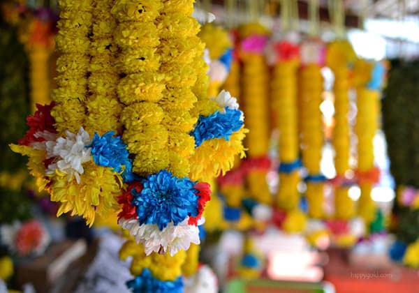
<instances>
[{"instance_id":1,"label":"blurred yellow hanging garland with red flower top and blue band","mask_svg":"<svg viewBox=\"0 0 419 293\"><path fill-rule=\"evenodd\" d=\"M292 37L290 35L289 37ZM297 129L297 69L300 47L290 38L274 40L266 50L273 66L270 84L274 128L279 132L279 190L277 208L292 211L300 205L297 184L300 181Z\"/></svg>"}]
</instances>

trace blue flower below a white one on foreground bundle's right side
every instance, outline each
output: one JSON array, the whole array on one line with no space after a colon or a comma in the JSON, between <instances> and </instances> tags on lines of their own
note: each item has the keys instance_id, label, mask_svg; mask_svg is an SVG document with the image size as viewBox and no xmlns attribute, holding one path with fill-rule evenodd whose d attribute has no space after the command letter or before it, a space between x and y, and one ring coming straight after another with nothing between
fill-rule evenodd
<instances>
[{"instance_id":1,"label":"blue flower below a white one on foreground bundle's right side","mask_svg":"<svg viewBox=\"0 0 419 293\"><path fill-rule=\"evenodd\" d=\"M240 120L242 111L225 108L226 112L214 112L208 116L200 116L191 135L195 138L195 147L199 147L205 140L223 137L230 140L230 135L240 130L243 121Z\"/></svg>"}]
</instances>

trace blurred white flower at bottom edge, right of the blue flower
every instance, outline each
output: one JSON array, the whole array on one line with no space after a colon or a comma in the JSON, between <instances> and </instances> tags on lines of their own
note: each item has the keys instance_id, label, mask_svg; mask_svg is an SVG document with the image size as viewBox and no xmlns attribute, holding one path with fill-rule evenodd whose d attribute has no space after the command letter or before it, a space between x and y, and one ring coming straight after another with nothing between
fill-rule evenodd
<instances>
[{"instance_id":1,"label":"blurred white flower at bottom edge, right of the blue flower","mask_svg":"<svg viewBox=\"0 0 419 293\"><path fill-rule=\"evenodd\" d=\"M218 281L210 266L203 264L190 278L184 278L185 293L216 293Z\"/></svg>"}]
</instances>

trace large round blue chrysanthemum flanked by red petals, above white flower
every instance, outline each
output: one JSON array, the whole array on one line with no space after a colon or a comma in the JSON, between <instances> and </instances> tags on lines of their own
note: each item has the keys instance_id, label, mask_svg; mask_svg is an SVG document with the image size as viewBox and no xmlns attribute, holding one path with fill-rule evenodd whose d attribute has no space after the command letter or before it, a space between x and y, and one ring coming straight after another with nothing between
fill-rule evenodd
<instances>
[{"instance_id":1,"label":"large round blue chrysanthemum flanked by red petals, above white flower","mask_svg":"<svg viewBox=\"0 0 419 293\"><path fill-rule=\"evenodd\" d=\"M195 184L186 177L178 179L166 170L147 176L140 193L135 188L131 190L140 225L156 224L163 230L171 221L177 225L187 216L198 216Z\"/></svg>"}]
</instances>

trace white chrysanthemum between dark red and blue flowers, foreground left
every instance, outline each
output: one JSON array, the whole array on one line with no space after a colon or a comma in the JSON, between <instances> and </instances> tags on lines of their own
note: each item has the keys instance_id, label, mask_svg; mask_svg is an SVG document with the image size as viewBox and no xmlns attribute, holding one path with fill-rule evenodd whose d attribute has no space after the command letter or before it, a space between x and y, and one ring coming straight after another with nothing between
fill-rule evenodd
<instances>
[{"instance_id":1,"label":"white chrysanthemum between dark red and blue flowers, foreground left","mask_svg":"<svg viewBox=\"0 0 419 293\"><path fill-rule=\"evenodd\" d=\"M47 168L47 174L54 173L55 170L60 170L68 174L68 181L73 176L78 183L80 183L80 174L84 173L83 163L91 160L91 148L87 147L91 144L89 133L82 127L77 135L66 132L67 137L58 137L55 142L47 142L47 158L57 158L57 160L50 164Z\"/></svg>"}]
</instances>

